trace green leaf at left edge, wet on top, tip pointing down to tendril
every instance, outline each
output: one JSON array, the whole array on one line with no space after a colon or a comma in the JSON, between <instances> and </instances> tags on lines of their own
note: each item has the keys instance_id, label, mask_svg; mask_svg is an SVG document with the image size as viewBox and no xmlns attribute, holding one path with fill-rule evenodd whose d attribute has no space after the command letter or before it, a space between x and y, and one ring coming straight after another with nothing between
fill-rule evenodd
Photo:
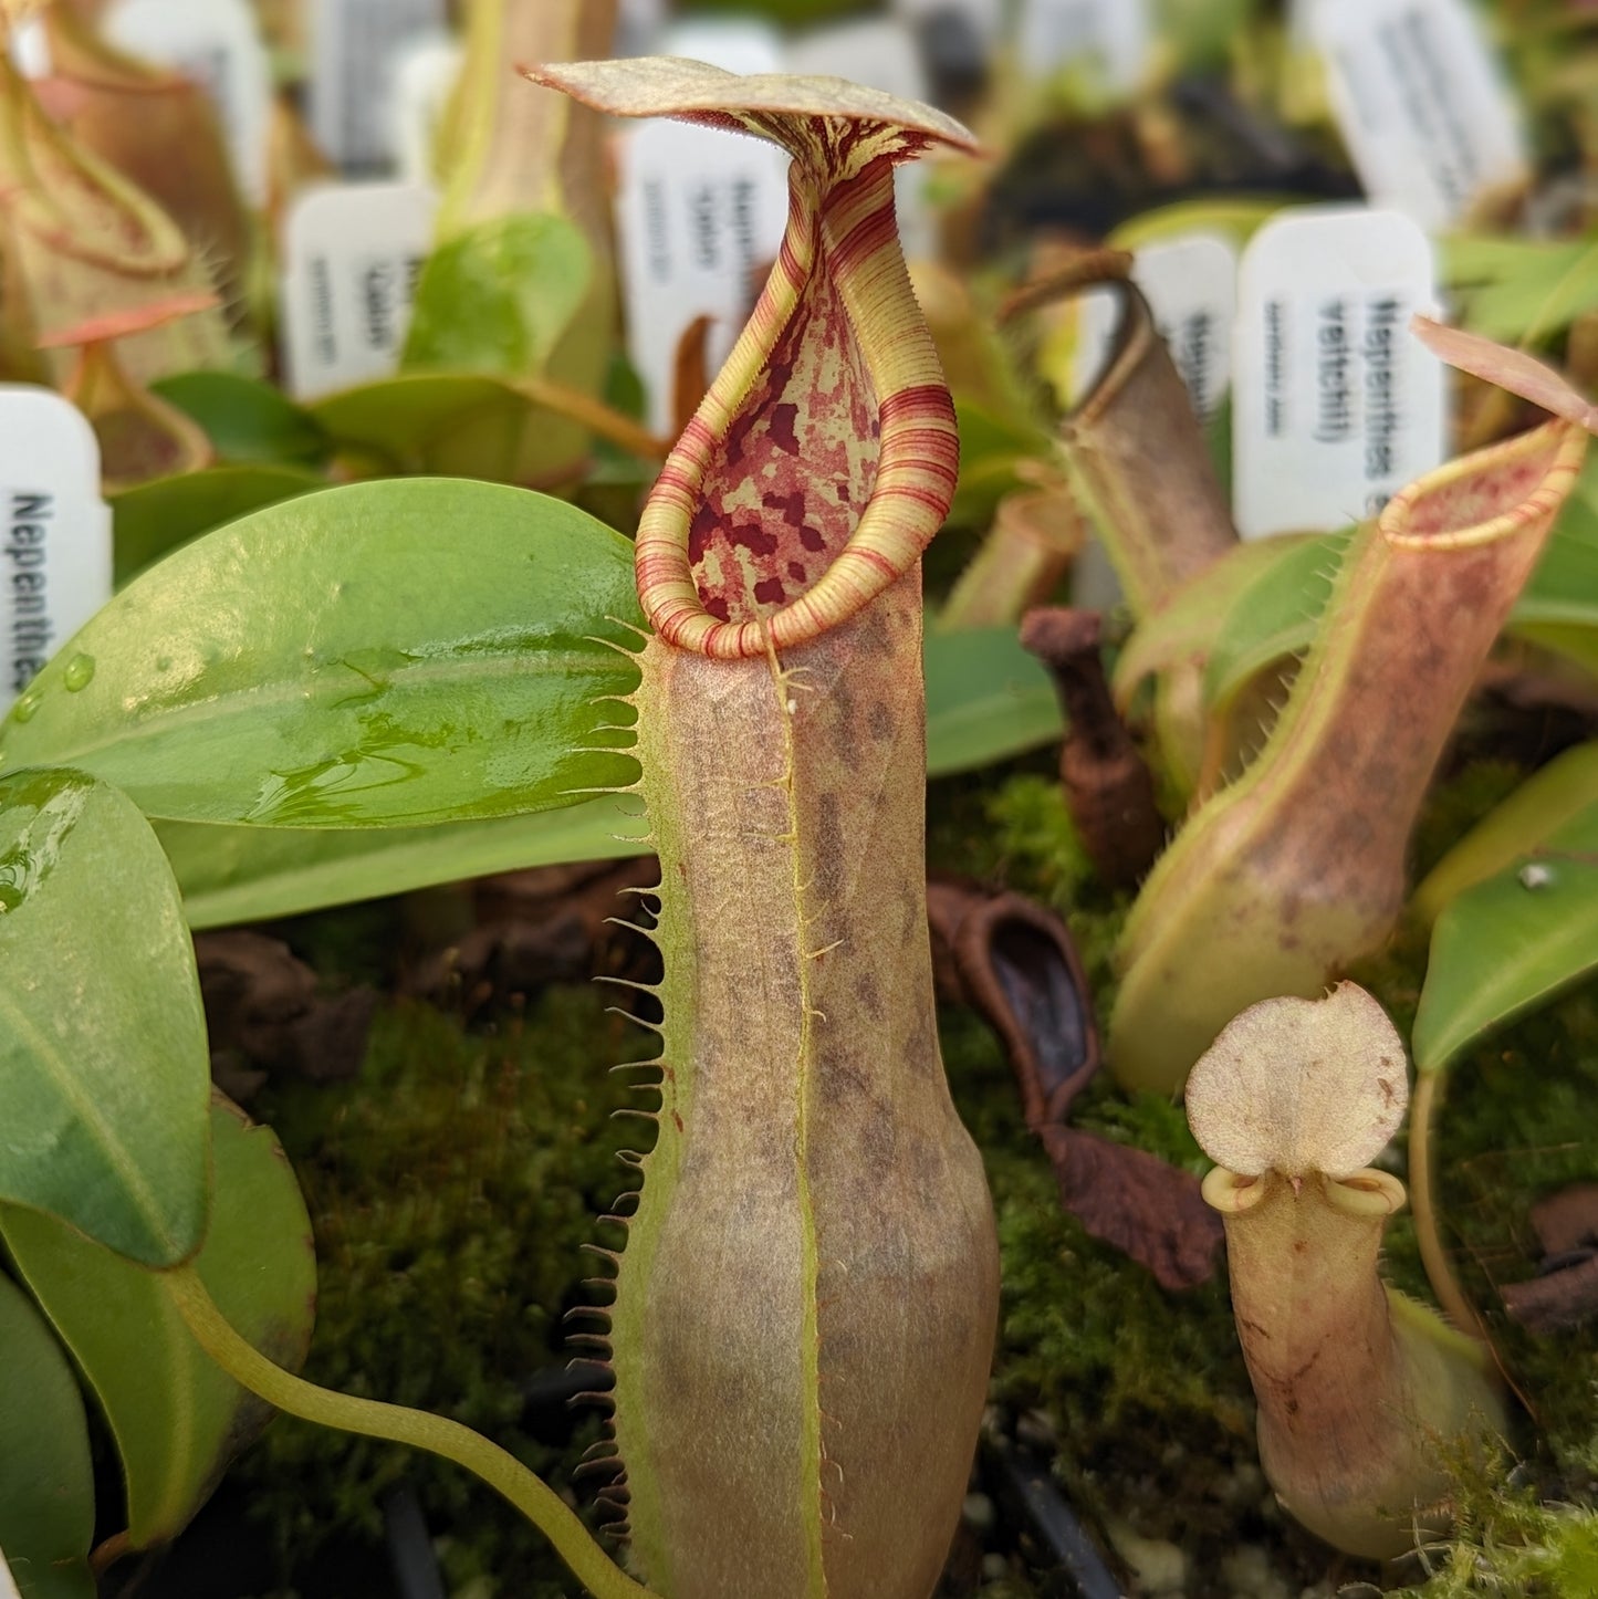
<instances>
[{"instance_id":1,"label":"green leaf at left edge, wet on top, tip pointing down to tendril","mask_svg":"<svg viewBox=\"0 0 1598 1599\"><path fill-rule=\"evenodd\" d=\"M147 1265L205 1233L211 1057L178 884L125 795L0 780L0 1199Z\"/></svg>"}]
</instances>

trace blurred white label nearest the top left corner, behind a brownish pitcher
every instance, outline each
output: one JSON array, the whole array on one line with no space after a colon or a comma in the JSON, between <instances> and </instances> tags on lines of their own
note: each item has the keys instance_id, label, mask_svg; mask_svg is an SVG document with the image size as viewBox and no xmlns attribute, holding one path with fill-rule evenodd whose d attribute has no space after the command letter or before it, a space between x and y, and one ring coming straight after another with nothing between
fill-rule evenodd
<instances>
[{"instance_id":1,"label":"blurred white label nearest the top left corner, behind a brownish pitcher","mask_svg":"<svg viewBox=\"0 0 1598 1599\"><path fill-rule=\"evenodd\" d=\"M106 37L206 88L216 101L245 198L267 197L272 69L250 0L117 0Z\"/></svg>"}]
</instances>

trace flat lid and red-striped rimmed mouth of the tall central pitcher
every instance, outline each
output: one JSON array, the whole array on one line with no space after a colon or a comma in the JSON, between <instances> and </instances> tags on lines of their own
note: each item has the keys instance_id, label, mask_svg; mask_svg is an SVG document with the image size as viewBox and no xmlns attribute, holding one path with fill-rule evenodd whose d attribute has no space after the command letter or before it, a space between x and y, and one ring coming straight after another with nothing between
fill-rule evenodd
<instances>
[{"instance_id":1,"label":"flat lid and red-striped rimmed mouth of the tall central pitcher","mask_svg":"<svg viewBox=\"0 0 1598 1599\"><path fill-rule=\"evenodd\" d=\"M641 98L617 70L632 66L533 75L603 110L739 128L793 157L777 261L637 540L638 596L665 643L721 660L781 652L883 593L949 512L953 403L899 251L893 168L971 139L926 107L835 80L673 62L685 82Z\"/></svg>"}]
</instances>

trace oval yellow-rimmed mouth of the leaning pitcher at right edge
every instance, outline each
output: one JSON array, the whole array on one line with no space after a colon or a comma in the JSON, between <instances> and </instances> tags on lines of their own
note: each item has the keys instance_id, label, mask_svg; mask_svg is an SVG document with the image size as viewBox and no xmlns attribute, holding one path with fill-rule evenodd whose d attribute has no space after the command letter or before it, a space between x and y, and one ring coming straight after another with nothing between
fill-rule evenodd
<instances>
[{"instance_id":1,"label":"oval yellow-rimmed mouth of the leaning pitcher at right edge","mask_svg":"<svg viewBox=\"0 0 1598 1599\"><path fill-rule=\"evenodd\" d=\"M1497 544L1558 510L1585 454L1585 429L1544 422L1417 478L1387 502L1377 529L1408 550Z\"/></svg>"}]
</instances>

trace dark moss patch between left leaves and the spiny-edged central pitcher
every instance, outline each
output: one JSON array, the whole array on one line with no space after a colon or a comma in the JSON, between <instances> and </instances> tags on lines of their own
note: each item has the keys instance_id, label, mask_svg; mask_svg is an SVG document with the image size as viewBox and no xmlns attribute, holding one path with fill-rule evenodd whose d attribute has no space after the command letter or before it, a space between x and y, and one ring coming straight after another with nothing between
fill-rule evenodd
<instances>
[{"instance_id":1,"label":"dark moss patch between left leaves and the spiny-edged central pitcher","mask_svg":"<svg viewBox=\"0 0 1598 1599\"><path fill-rule=\"evenodd\" d=\"M555 1485L600 1436L600 1415L550 1447L523 1423L523 1383L569 1359L561 1314L598 1273L581 1249L625 1186L617 1146L638 1143L640 1124L629 1138L609 1119L633 1102L630 1075L606 1067L649 1051L605 1004L595 988L552 990L480 1036L401 1003L379 1012L357 1081L285 1084L256 1107L317 1231L306 1375L451 1415ZM569 1588L542 1538L454 1466L283 1417L238 1469L283 1549L285 1581L334 1533L376 1541L382 1490L403 1476L429 1521L451 1529L451 1591L557 1599Z\"/></svg>"}]
</instances>

